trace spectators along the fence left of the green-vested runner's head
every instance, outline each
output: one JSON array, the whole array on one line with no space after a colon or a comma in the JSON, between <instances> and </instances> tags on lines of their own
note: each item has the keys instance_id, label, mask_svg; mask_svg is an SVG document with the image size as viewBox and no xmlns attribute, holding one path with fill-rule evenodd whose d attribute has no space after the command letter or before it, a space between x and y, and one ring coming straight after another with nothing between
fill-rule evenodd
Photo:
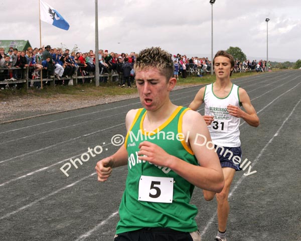
<instances>
[{"instance_id":1,"label":"spectators along the fence left of the green-vested runner's head","mask_svg":"<svg viewBox=\"0 0 301 241\"><path fill-rule=\"evenodd\" d=\"M56 77L56 84L68 85L70 79L77 75L94 75L95 57L99 59L100 82L108 81L108 74L120 76L120 87L131 87L133 82L133 64L136 58L134 52L130 54L114 52L108 53L108 50L99 50L95 54L93 50L89 52L70 53L69 49L51 48L47 45L45 48L29 47L26 51L10 48L8 53L0 47L0 81L16 81L25 78L25 70L29 67L29 78L40 78L43 70L43 78ZM84 78L82 78L84 83ZM31 82L31 86L34 83ZM12 85L11 85L12 86ZM3 87L3 86L1 86ZM10 85L6 86L7 88Z\"/></svg>"}]
</instances>

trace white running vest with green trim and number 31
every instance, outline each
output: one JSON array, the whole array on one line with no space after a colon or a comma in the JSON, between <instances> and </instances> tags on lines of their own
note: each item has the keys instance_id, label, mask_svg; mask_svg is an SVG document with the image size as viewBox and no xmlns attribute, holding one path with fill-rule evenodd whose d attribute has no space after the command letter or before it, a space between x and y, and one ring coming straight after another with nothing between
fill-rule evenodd
<instances>
[{"instance_id":1,"label":"white running vest with green trim and number 31","mask_svg":"<svg viewBox=\"0 0 301 241\"><path fill-rule=\"evenodd\" d=\"M219 98L213 93L213 84L207 85L205 88L205 115L214 116L214 121L211 122L208 129L215 145L240 146L240 118L231 116L227 111L229 104L240 108L238 89L239 87L233 84L229 95L225 98Z\"/></svg>"}]
</instances>

